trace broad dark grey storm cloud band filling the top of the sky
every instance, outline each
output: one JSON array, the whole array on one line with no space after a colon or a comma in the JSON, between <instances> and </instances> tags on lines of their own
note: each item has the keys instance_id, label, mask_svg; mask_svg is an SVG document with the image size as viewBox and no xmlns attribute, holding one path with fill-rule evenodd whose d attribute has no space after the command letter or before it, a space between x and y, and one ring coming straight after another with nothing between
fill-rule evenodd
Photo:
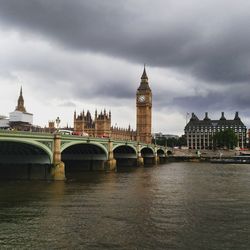
<instances>
[{"instance_id":1,"label":"broad dark grey storm cloud band filling the top of the sky","mask_svg":"<svg viewBox=\"0 0 250 250\"><path fill-rule=\"evenodd\" d=\"M250 80L250 4L243 0L0 0L0 22L68 49L174 67L201 81Z\"/></svg>"}]
</instances>

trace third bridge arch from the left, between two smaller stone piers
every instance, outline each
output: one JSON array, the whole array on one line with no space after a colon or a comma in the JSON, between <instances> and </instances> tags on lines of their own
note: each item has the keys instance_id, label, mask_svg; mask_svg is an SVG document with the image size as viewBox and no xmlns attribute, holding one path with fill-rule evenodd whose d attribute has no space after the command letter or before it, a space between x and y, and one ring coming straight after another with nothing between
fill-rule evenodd
<instances>
[{"instance_id":1,"label":"third bridge arch from the left, between two smaller stone piers","mask_svg":"<svg viewBox=\"0 0 250 250\"><path fill-rule=\"evenodd\" d=\"M137 165L136 148L127 144L119 144L113 148L117 167L134 167Z\"/></svg>"}]
</instances>

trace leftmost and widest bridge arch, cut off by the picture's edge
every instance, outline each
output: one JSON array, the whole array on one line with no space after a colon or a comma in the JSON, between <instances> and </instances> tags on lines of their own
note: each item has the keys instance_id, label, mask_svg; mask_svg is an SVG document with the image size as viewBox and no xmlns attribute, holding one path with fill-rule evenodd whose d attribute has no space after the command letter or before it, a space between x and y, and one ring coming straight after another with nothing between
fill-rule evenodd
<instances>
[{"instance_id":1,"label":"leftmost and widest bridge arch, cut off by the picture's edge","mask_svg":"<svg viewBox=\"0 0 250 250\"><path fill-rule=\"evenodd\" d=\"M52 152L42 143L1 138L0 179L46 179L52 159Z\"/></svg>"}]
</instances>

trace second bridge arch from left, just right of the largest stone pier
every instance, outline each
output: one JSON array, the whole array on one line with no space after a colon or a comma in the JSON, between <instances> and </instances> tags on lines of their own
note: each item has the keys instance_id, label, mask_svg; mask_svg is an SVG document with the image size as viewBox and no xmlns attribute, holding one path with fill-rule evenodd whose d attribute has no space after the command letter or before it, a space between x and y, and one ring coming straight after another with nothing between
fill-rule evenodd
<instances>
[{"instance_id":1,"label":"second bridge arch from left, just right of the largest stone pier","mask_svg":"<svg viewBox=\"0 0 250 250\"><path fill-rule=\"evenodd\" d=\"M104 170L108 151L99 143L71 142L62 146L61 159L66 176L72 171Z\"/></svg>"}]
</instances>

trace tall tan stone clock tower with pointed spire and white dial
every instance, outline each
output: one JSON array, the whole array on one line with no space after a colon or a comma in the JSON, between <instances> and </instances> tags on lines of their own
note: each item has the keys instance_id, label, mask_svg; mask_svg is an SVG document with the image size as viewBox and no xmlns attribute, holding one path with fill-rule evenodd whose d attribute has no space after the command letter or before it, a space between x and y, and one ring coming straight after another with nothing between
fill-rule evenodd
<instances>
[{"instance_id":1,"label":"tall tan stone clock tower with pointed spire and white dial","mask_svg":"<svg viewBox=\"0 0 250 250\"><path fill-rule=\"evenodd\" d=\"M141 83L136 92L136 133L137 141L151 143L152 92L144 66Z\"/></svg>"}]
</instances>

